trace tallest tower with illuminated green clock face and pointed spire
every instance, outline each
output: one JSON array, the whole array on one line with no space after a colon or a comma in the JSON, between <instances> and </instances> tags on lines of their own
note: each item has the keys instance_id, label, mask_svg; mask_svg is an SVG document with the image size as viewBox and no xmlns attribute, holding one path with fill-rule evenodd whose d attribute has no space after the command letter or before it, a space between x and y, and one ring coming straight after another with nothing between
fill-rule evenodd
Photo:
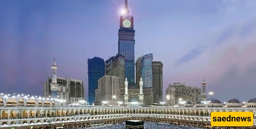
<instances>
[{"instance_id":1,"label":"tallest tower with illuminated green clock face and pointed spire","mask_svg":"<svg viewBox=\"0 0 256 129\"><path fill-rule=\"evenodd\" d=\"M125 78L129 84L128 88L136 88L134 83L134 36L133 16L129 15L127 0L125 0L124 14L120 16L120 28L118 30L118 52L125 55Z\"/></svg>"}]
</instances>

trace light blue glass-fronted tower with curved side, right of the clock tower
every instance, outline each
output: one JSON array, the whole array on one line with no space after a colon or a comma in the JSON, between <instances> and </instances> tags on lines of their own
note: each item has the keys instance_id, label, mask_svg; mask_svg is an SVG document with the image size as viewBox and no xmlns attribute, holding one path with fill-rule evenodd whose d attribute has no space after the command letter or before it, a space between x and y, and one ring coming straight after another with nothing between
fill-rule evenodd
<instances>
[{"instance_id":1,"label":"light blue glass-fronted tower with curved side, right of the clock tower","mask_svg":"<svg viewBox=\"0 0 256 129\"><path fill-rule=\"evenodd\" d=\"M141 60L143 88L152 88L152 60L153 54L144 55Z\"/></svg>"}]
</instances>

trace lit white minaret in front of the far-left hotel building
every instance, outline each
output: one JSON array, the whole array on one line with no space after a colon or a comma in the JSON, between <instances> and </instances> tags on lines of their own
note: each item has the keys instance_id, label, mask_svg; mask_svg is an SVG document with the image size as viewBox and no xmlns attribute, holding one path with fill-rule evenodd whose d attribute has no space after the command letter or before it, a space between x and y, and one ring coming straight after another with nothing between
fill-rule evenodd
<instances>
[{"instance_id":1,"label":"lit white minaret in front of the far-left hotel building","mask_svg":"<svg viewBox=\"0 0 256 129\"><path fill-rule=\"evenodd\" d=\"M57 84L57 65L55 59L51 65L52 75L51 75L51 98L58 98L58 86ZM48 97L48 96L47 96Z\"/></svg>"}]
</instances>

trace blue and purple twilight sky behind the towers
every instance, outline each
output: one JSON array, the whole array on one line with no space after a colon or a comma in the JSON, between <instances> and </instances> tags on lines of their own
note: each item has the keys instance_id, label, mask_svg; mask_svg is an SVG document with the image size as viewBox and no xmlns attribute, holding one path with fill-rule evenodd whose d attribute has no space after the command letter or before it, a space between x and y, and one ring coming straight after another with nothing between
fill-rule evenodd
<instances>
[{"instance_id":1,"label":"blue and purple twilight sky behind the towers","mask_svg":"<svg viewBox=\"0 0 256 129\"><path fill-rule=\"evenodd\" d=\"M128 0L135 60L163 63L163 96L176 82L222 102L256 97L255 0ZM0 1L0 92L43 95L53 58L57 76L81 79L87 60L118 52L124 0ZM165 100L165 97L163 98Z\"/></svg>"}]
</instances>

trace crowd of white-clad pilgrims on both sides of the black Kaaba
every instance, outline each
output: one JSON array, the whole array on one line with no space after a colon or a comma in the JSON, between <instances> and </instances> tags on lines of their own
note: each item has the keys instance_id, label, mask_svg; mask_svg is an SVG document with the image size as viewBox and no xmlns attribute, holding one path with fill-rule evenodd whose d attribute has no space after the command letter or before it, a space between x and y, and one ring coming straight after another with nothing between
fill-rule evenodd
<instances>
[{"instance_id":1,"label":"crowd of white-clad pilgrims on both sides of the black Kaaba","mask_svg":"<svg viewBox=\"0 0 256 129\"><path fill-rule=\"evenodd\" d=\"M103 127L89 127L86 129L125 129L125 122L103 126ZM165 124L165 123L156 123L156 122L144 122L144 129L202 129L202 128L171 125L167 123Z\"/></svg>"}]
</instances>

